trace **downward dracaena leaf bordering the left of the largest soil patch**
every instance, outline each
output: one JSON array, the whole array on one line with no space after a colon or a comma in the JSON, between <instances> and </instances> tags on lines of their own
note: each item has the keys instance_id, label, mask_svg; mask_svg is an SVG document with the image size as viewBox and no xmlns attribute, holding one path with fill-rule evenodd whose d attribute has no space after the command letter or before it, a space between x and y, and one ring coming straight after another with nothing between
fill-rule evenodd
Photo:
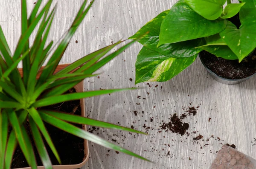
<instances>
[{"instance_id":1,"label":"downward dracaena leaf bordering the left of the largest soil patch","mask_svg":"<svg viewBox=\"0 0 256 169\"><path fill-rule=\"evenodd\" d=\"M35 110L34 107L32 107L28 110L28 112L29 112L29 115L31 115L31 117L33 118L33 120L37 124L37 126L40 129L40 131L42 132L42 134L44 135L44 138L47 141L49 147L52 149L52 152L55 155L56 159L58 160L59 163L61 163L61 159L58 155L58 152L57 152L54 144L52 143L52 139L50 138L50 135L48 134L47 129L44 126L44 122L42 121L38 111Z\"/></svg>"}]
</instances>

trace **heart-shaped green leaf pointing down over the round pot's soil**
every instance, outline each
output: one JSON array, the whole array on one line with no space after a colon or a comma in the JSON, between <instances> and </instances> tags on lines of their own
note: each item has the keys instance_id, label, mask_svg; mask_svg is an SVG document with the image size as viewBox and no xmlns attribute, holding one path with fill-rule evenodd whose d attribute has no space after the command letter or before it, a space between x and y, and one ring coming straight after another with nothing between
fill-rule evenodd
<instances>
[{"instance_id":1,"label":"heart-shaped green leaf pointing down over the round pot's soil","mask_svg":"<svg viewBox=\"0 0 256 169\"><path fill-rule=\"evenodd\" d=\"M251 51L256 48L256 22L246 22L240 26L228 21L227 27L220 33L221 37L236 54L241 62Z\"/></svg>"}]
</instances>

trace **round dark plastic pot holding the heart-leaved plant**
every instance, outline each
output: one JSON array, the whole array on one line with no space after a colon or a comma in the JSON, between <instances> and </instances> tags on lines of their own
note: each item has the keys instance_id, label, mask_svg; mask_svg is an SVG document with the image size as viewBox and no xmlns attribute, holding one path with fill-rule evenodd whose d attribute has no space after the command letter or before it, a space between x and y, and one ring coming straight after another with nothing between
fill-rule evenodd
<instances>
[{"instance_id":1,"label":"round dark plastic pot holding the heart-leaved plant","mask_svg":"<svg viewBox=\"0 0 256 169\"><path fill-rule=\"evenodd\" d=\"M200 57L200 60L201 60L202 64L204 65L204 68L206 68L207 72L213 77L213 79L215 79L216 81L218 81L220 83L226 84L226 85L236 85L236 84L244 82L245 80L250 79L251 77L256 75L256 73L254 73L253 75L248 76L248 77L243 78L243 79L226 79L226 78L223 78L221 76L218 76L216 73L212 72L212 70L207 68L207 66L204 64L203 59L201 58L202 56L201 56L200 53L199 53L199 57Z\"/></svg>"}]
</instances>

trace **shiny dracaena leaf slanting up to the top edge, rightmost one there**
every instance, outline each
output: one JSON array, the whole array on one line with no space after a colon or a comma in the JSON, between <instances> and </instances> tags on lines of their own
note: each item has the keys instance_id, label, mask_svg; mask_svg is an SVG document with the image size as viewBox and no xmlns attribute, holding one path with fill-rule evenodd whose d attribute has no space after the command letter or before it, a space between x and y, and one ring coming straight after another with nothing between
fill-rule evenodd
<instances>
[{"instance_id":1,"label":"shiny dracaena leaf slanting up to the top edge, rightmost one there","mask_svg":"<svg viewBox=\"0 0 256 169\"><path fill-rule=\"evenodd\" d=\"M38 80L39 84L44 83L45 80L47 79L47 77L54 72L54 70L57 67L59 61L61 60L61 57L64 54L64 51L67 48L67 45L70 42L70 39L73 37L73 34L75 34L77 28L79 27L80 23L82 22L82 20L84 19L85 15L89 11L89 9L92 6L93 2L94 2L94 0L92 2L90 2L90 5L85 9L85 11L80 15L80 17L78 17L77 20L74 20L74 23L71 25L67 35L61 41L60 45L58 45L58 48L52 54L52 57L49 59L49 62L47 63L47 65L51 64L52 62L55 62L55 64L50 66L49 69L44 69L43 70L43 72L42 72L42 74L41 74L41 76L40 76L40 78Z\"/></svg>"}]
</instances>

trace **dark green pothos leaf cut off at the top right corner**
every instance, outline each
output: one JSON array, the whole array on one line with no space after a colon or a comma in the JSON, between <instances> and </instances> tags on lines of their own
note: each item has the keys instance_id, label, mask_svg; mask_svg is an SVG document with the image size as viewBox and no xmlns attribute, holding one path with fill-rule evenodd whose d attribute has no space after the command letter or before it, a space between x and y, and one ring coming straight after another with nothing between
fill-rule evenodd
<instances>
[{"instance_id":1,"label":"dark green pothos leaf cut off at the top right corner","mask_svg":"<svg viewBox=\"0 0 256 169\"><path fill-rule=\"evenodd\" d=\"M256 0L243 0L244 6L241 7L239 12L239 19L241 24L246 21L256 20Z\"/></svg>"}]
</instances>

